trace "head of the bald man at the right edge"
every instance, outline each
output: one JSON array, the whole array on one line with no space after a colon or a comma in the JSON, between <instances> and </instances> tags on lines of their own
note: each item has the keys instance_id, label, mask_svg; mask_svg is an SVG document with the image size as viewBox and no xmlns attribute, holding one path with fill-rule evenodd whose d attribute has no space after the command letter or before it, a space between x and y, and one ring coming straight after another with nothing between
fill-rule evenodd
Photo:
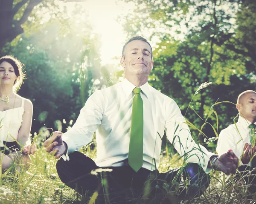
<instances>
[{"instance_id":1,"label":"head of the bald man at the right edge","mask_svg":"<svg viewBox=\"0 0 256 204\"><path fill-rule=\"evenodd\" d=\"M248 121L256 119L256 94L247 93L240 99L236 108L241 112L241 115Z\"/></svg>"}]
</instances>

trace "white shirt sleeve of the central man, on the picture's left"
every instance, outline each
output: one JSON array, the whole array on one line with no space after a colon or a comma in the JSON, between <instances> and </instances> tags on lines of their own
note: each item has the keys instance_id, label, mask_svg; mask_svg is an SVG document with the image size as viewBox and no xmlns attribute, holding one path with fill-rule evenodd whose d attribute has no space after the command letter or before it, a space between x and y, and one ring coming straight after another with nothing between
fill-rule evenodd
<instances>
[{"instance_id":1,"label":"white shirt sleeve of the central man, on the picture's left","mask_svg":"<svg viewBox=\"0 0 256 204\"><path fill-rule=\"evenodd\" d=\"M67 144L67 154L62 155L64 160L69 160L68 154L79 151L81 147L90 143L93 134L101 124L104 109L104 97L101 92L94 92L86 101L84 107L73 127L62 135Z\"/></svg>"}]
</instances>

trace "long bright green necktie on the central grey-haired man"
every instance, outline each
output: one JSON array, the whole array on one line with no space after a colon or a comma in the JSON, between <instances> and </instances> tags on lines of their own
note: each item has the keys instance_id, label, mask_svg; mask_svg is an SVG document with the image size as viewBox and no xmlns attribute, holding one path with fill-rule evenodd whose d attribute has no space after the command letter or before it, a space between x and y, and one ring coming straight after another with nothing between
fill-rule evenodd
<instances>
[{"instance_id":1,"label":"long bright green necktie on the central grey-haired man","mask_svg":"<svg viewBox=\"0 0 256 204\"><path fill-rule=\"evenodd\" d=\"M140 88L135 87L133 92L128 163L137 172L143 165L143 100Z\"/></svg>"}]
</instances>

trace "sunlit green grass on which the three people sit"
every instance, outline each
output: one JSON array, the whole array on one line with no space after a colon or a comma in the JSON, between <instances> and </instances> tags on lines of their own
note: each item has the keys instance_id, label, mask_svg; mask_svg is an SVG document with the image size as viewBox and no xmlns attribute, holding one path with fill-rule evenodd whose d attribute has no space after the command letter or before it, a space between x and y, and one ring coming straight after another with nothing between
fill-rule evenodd
<instances>
[{"instance_id":1,"label":"sunlit green grass on which the three people sit","mask_svg":"<svg viewBox=\"0 0 256 204\"><path fill-rule=\"evenodd\" d=\"M90 150L90 149L89 149ZM87 151L87 155L95 158L96 151ZM161 155L160 172L166 172L168 167L179 167L182 161L176 161L178 155L173 155L172 159L168 154ZM65 186L58 178L56 168L56 160L44 151L41 147L32 155L32 164L28 171L21 170L20 173L8 172L2 175L0 184L0 203L1 204L80 204L84 203L84 199L74 192L74 190ZM12 167L15 169L15 166ZM219 177L219 173L215 172L212 176L212 184L206 190L204 195L188 201L180 201L179 203L188 204L253 204L246 198L248 194L243 182L234 183L233 187L224 185L219 182L223 177ZM217 179L219 181L217 181ZM171 192L166 193L170 204L178 203L172 197ZM169 196L169 197L168 197ZM88 200L89 198L87 198ZM89 202L93 204L91 200ZM136 202L131 202L136 203ZM144 201L143 203L148 203ZM161 203L159 201L159 203Z\"/></svg>"}]
</instances>

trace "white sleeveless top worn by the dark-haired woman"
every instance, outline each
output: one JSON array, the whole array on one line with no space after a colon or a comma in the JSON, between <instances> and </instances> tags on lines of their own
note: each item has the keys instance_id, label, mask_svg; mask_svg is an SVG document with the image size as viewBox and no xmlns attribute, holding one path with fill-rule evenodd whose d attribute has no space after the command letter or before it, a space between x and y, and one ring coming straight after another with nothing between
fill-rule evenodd
<instances>
[{"instance_id":1,"label":"white sleeveless top worn by the dark-haired woman","mask_svg":"<svg viewBox=\"0 0 256 204\"><path fill-rule=\"evenodd\" d=\"M0 146L3 146L3 141L17 140L23 121L24 101L22 98L21 107L0 111Z\"/></svg>"}]
</instances>

